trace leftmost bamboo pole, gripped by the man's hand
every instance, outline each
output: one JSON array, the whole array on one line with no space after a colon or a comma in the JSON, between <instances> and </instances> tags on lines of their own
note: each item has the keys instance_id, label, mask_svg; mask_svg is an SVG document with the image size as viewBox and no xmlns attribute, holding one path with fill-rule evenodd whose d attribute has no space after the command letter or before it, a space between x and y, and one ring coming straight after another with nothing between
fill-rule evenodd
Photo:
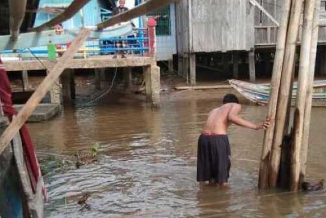
<instances>
[{"instance_id":1,"label":"leftmost bamboo pole, gripped by the man's hand","mask_svg":"<svg viewBox=\"0 0 326 218\"><path fill-rule=\"evenodd\" d=\"M282 12L282 20L277 34L277 43L276 43L276 52L274 58L274 66L272 72L272 81L271 81L271 92L268 102L268 112L267 117L272 121L275 120L276 116L276 107L277 107L277 98L279 85L281 83L281 74L283 67L283 58L285 51L285 42L286 42L286 33L291 9L291 0L285 0ZM274 135L274 124L271 122L271 127L266 130L263 142L263 150L260 159L260 168L259 168L259 188L268 187L268 165L270 160L270 150L272 147L272 140Z\"/></svg>"}]
</instances>

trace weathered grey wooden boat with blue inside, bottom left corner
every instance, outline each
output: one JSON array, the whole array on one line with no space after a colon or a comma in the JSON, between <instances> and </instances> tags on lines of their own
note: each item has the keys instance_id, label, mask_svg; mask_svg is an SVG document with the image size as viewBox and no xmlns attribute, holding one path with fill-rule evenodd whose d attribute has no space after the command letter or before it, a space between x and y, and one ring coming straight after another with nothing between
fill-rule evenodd
<instances>
[{"instance_id":1,"label":"weathered grey wooden boat with blue inside, bottom left corner","mask_svg":"<svg viewBox=\"0 0 326 218\"><path fill-rule=\"evenodd\" d=\"M0 101L1 102L1 101ZM8 119L0 114L0 135ZM0 154L0 217L43 217L43 178L40 177L33 194L23 157L22 141L17 135Z\"/></svg>"}]
</instances>

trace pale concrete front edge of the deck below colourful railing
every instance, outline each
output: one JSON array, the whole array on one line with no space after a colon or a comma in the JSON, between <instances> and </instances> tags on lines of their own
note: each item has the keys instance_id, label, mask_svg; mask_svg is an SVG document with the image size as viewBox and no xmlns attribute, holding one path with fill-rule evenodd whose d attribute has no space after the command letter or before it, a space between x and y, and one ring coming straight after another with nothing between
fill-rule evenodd
<instances>
[{"instance_id":1,"label":"pale concrete front edge of the deck below colourful railing","mask_svg":"<svg viewBox=\"0 0 326 218\"><path fill-rule=\"evenodd\" d=\"M68 69L89 69L89 68L109 68L109 67L137 67L149 66L155 63L151 57L127 56L126 58L113 59L112 55L94 56L87 59L73 59L67 66ZM42 62L42 63L41 63ZM55 62L47 59L7 61L4 63L7 71L21 70L44 70L45 67L51 69Z\"/></svg>"}]
</instances>

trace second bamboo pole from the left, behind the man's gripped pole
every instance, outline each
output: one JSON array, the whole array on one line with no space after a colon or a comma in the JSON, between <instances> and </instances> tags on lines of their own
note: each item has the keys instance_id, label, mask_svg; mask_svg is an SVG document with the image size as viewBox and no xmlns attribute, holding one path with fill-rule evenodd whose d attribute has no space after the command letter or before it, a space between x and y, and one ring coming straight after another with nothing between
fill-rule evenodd
<instances>
[{"instance_id":1,"label":"second bamboo pole from the left, behind the man's gripped pole","mask_svg":"<svg viewBox=\"0 0 326 218\"><path fill-rule=\"evenodd\" d=\"M275 119L275 132L271 150L270 170L269 170L269 186L275 187L278 179L281 144L286 120L286 112L288 105L288 96L291 85L291 76L293 70L293 62L296 49L296 39L299 30L300 14L303 0L292 2L291 16L286 39L286 47L284 54L284 63L282 68L281 85L277 102L277 111Z\"/></svg>"}]
</instances>

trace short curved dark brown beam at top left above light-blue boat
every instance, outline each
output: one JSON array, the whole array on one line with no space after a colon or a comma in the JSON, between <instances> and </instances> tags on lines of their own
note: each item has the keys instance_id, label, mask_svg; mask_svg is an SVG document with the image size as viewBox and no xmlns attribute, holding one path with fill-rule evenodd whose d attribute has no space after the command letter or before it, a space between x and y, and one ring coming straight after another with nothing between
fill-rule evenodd
<instances>
[{"instance_id":1,"label":"short curved dark brown beam at top left above light-blue boat","mask_svg":"<svg viewBox=\"0 0 326 218\"><path fill-rule=\"evenodd\" d=\"M30 32L40 32L51 27L54 27L66 20L72 18L79 10L81 10L90 0L74 0L64 13L55 17L51 21L46 22L38 27L32 28Z\"/></svg>"}]
</instances>

